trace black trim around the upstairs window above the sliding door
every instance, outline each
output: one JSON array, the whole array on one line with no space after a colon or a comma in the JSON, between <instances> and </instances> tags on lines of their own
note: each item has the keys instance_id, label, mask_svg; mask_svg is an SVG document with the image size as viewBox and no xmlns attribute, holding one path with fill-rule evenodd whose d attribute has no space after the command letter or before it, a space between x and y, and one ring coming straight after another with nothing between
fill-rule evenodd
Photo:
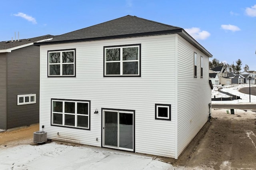
<instances>
[{"instance_id":1,"label":"black trim around the upstairs window above the sliding door","mask_svg":"<svg viewBox=\"0 0 256 170\"><path fill-rule=\"evenodd\" d=\"M139 46L139 65L138 75L105 75L105 48L111 47L128 47L128 46ZM141 43L137 44L126 44L126 45L110 45L110 46L103 46L103 77L141 77Z\"/></svg>"}]
</instances>

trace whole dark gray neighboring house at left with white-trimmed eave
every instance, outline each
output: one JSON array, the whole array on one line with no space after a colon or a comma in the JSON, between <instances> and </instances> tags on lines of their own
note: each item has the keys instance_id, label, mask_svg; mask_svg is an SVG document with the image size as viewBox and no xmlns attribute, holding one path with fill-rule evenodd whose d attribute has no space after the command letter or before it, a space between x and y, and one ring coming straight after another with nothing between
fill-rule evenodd
<instances>
[{"instance_id":1,"label":"whole dark gray neighboring house at left with white-trimmed eave","mask_svg":"<svg viewBox=\"0 0 256 170\"><path fill-rule=\"evenodd\" d=\"M0 42L0 129L39 122L40 48L50 35Z\"/></svg>"}]
</instances>

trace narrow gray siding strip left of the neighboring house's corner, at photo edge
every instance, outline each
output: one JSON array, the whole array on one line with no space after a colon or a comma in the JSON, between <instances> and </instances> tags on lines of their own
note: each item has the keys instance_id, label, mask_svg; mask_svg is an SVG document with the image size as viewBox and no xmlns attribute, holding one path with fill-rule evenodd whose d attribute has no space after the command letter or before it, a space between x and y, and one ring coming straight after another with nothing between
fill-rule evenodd
<instances>
[{"instance_id":1,"label":"narrow gray siding strip left of the neighboring house's corner, at photo edge","mask_svg":"<svg viewBox=\"0 0 256 170\"><path fill-rule=\"evenodd\" d=\"M0 53L0 128L6 129L6 53Z\"/></svg>"}]
</instances>

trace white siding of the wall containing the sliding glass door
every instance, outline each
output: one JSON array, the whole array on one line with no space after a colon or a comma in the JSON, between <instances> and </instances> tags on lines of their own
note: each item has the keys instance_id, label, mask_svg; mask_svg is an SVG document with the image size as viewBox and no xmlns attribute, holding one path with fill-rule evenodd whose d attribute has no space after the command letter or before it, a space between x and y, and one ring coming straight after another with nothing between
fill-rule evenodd
<instances>
[{"instance_id":1,"label":"white siding of the wall containing the sliding glass door","mask_svg":"<svg viewBox=\"0 0 256 170\"><path fill-rule=\"evenodd\" d=\"M141 44L141 77L103 77L103 47L128 44ZM47 77L47 51L60 49L76 49L76 77ZM174 35L41 45L40 68L40 127L48 138L101 146L101 108L130 109L135 110L135 152L174 157ZM51 126L53 98L90 100L90 130ZM155 120L156 103L171 105L171 121Z\"/></svg>"}]
</instances>

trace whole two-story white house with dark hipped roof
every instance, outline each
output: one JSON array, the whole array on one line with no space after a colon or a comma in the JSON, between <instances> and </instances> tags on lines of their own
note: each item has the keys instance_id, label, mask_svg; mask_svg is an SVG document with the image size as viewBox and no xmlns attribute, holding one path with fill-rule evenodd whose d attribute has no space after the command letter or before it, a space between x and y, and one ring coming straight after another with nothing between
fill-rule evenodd
<instances>
[{"instance_id":1,"label":"whole two-story white house with dark hipped roof","mask_svg":"<svg viewBox=\"0 0 256 170\"><path fill-rule=\"evenodd\" d=\"M208 120L212 55L182 28L128 15L35 45L50 139L178 158Z\"/></svg>"}]
</instances>

